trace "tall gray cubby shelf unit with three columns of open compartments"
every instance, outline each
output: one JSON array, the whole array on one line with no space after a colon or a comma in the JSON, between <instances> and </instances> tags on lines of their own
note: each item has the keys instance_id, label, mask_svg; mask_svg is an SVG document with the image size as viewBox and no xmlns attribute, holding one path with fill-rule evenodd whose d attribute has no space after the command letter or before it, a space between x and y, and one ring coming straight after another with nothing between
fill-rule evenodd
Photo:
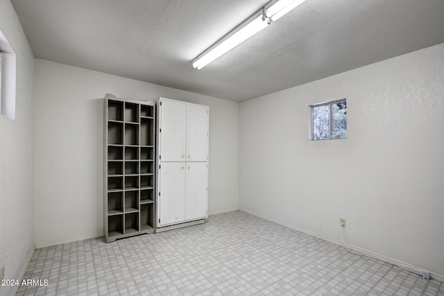
<instances>
[{"instance_id":1,"label":"tall gray cubby shelf unit with three columns of open compartments","mask_svg":"<svg viewBox=\"0 0 444 296\"><path fill-rule=\"evenodd\" d=\"M155 103L105 96L104 234L155 232Z\"/></svg>"}]
</instances>

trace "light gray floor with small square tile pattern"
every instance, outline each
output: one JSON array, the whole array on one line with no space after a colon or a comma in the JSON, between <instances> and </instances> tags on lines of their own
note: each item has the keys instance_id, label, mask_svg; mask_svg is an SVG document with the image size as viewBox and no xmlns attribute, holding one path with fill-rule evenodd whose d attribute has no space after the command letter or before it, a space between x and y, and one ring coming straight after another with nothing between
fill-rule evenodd
<instances>
[{"instance_id":1,"label":"light gray floor with small square tile pattern","mask_svg":"<svg viewBox=\"0 0 444 296\"><path fill-rule=\"evenodd\" d=\"M17 295L444 295L440 281L241 211L109 244L35 250L24 278L42 286Z\"/></svg>"}]
</instances>

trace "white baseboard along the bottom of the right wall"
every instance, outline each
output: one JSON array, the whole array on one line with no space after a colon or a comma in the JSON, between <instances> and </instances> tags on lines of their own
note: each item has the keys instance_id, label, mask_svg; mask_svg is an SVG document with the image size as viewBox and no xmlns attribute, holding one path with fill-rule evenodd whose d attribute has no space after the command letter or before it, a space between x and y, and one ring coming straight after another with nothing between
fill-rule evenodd
<instances>
[{"instance_id":1,"label":"white baseboard along the bottom of the right wall","mask_svg":"<svg viewBox=\"0 0 444 296\"><path fill-rule=\"evenodd\" d=\"M341 241L336 241L334 239L327 238L325 236L321 236L321 235L316 234L314 232L310 232L307 229L302 229L300 227L296 227L294 225L290 225L288 223L284 223L284 222L282 222L280 220L272 219L272 218L270 218L268 216L264 216L262 214L255 213L254 211L249 211L247 209L239 209L239 211L244 211L244 212L246 212L248 214L251 214L253 216L257 216L259 218L263 218L263 219L271 221L273 223L277 223L279 225L282 225L282 226L289 227L291 229L297 230L298 232L303 232L303 233L308 234L310 236L315 236L317 238L321 238L324 241L329 241L330 243L334 243L336 245L342 245L343 246L343 243ZM350 250L353 250L355 252L363 254L364 256L368 256L368 257L373 258L373 259L377 259L377 260L381 260L381 261L384 261L384 262L387 262L387 263L390 263L390 264L393 264L393 265L397 265L400 268L402 268L403 270L407 270L409 272L413 272L413 273L415 273L417 275L422 275L422 271L424 270L422 268L418 268L417 266L414 266L414 265L411 265L411 264L408 264L408 263L404 263L402 261L399 261L399 260L396 260L396 259L393 259L393 258L390 258L390 257L387 257L387 256L383 256L383 255L377 254L375 252L371 252L371 251L363 249L361 247L356 247L354 245L349 245L349 244L347 244L347 246L350 248ZM444 275L439 275L439 274L437 274L435 272L430 272L430 278L437 279L438 281L444 281Z\"/></svg>"}]
</instances>

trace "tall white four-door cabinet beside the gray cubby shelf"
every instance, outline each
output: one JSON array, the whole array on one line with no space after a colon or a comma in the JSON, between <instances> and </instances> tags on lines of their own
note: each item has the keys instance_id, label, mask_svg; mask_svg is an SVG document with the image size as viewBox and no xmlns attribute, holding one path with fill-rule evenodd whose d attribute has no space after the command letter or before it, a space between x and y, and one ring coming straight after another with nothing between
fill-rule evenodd
<instances>
[{"instance_id":1,"label":"tall white four-door cabinet beside the gray cubby shelf","mask_svg":"<svg viewBox=\"0 0 444 296\"><path fill-rule=\"evenodd\" d=\"M160 232L208 216L209 108L167 98L160 98L157 107Z\"/></svg>"}]
</instances>

